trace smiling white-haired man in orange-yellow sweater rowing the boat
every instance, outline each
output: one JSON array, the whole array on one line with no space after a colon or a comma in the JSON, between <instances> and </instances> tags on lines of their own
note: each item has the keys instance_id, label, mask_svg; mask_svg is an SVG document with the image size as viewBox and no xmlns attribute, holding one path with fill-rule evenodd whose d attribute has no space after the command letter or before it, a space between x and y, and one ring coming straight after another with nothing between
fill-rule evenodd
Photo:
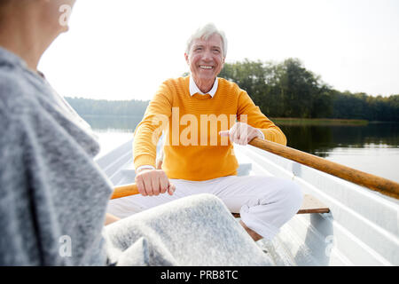
<instances>
[{"instance_id":1,"label":"smiling white-haired man in orange-yellow sweater rowing the boat","mask_svg":"<svg viewBox=\"0 0 399 284\"><path fill-rule=\"evenodd\" d=\"M232 143L246 145L263 138L286 145L286 136L246 91L217 77L226 51L224 33L213 24L189 38L184 57L191 75L162 83L135 131L134 163L141 195L111 201L110 213L127 217L187 195L213 193L231 212L240 213L240 224L257 241L272 239L298 211L302 194L293 182L237 177L239 163ZM164 158L157 170L161 130Z\"/></svg>"}]
</instances>

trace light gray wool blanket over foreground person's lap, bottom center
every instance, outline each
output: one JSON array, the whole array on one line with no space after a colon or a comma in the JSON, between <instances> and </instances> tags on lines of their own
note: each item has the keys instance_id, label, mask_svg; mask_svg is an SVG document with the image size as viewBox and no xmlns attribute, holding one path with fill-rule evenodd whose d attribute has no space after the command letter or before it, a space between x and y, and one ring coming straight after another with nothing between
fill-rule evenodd
<instances>
[{"instance_id":1,"label":"light gray wool blanket over foreground person's lap, bottom center","mask_svg":"<svg viewBox=\"0 0 399 284\"><path fill-rule=\"evenodd\" d=\"M205 193L107 225L106 237L119 265L271 264L223 202Z\"/></svg>"}]
</instances>

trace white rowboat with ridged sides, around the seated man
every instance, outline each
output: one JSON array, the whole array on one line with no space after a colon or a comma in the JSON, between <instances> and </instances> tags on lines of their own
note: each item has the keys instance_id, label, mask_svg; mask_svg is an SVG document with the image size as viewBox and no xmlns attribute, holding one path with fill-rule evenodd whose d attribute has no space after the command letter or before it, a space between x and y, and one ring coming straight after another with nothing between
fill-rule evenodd
<instances>
[{"instance_id":1,"label":"white rowboat with ridged sides, around the seated man","mask_svg":"<svg viewBox=\"0 0 399 284\"><path fill-rule=\"evenodd\" d=\"M328 213L297 214L273 241L258 242L276 265L399 264L399 201L253 146L234 151L239 176L289 178L326 205ZM113 185L127 185L136 175L132 157L129 140L96 162Z\"/></svg>"}]
</instances>

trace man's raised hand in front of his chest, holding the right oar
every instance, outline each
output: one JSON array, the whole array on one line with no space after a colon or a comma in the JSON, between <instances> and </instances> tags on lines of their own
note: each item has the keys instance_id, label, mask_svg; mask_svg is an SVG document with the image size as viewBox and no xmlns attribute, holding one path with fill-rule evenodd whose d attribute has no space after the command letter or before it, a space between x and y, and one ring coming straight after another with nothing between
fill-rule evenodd
<instances>
[{"instance_id":1,"label":"man's raised hand in front of his chest, holding the right oar","mask_svg":"<svg viewBox=\"0 0 399 284\"><path fill-rule=\"evenodd\" d=\"M244 122L235 123L230 130L219 132L220 136L228 136L233 143L246 145L253 138L263 138L262 131Z\"/></svg>"}]
</instances>

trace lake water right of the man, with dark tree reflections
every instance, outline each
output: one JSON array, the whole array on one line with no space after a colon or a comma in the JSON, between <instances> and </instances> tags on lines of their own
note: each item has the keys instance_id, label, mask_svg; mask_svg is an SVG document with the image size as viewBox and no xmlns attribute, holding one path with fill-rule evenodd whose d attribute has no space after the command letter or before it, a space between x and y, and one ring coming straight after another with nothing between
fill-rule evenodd
<instances>
[{"instance_id":1,"label":"lake water right of the man, with dark tree reflections","mask_svg":"<svg viewBox=\"0 0 399 284\"><path fill-rule=\"evenodd\" d=\"M288 146L399 182L399 123L279 127Z\"/></svg>"}]
</instances>

